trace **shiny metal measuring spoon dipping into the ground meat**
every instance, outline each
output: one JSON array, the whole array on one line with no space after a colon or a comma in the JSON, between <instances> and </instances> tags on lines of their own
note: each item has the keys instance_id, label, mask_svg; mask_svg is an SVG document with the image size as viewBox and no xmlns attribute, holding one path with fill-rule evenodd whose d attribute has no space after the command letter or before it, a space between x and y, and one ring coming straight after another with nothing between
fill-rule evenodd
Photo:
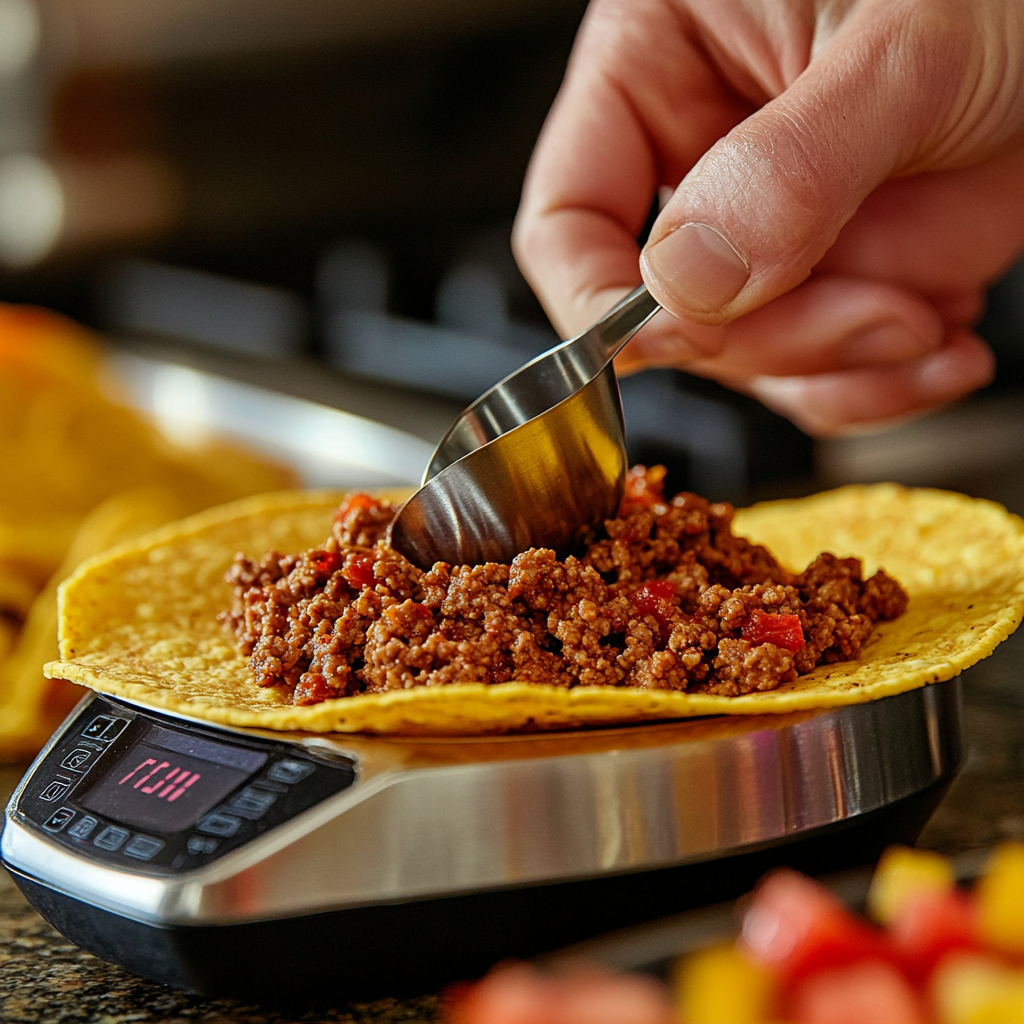
<instances>
[{"instance_id":1,"label":"shiny metal measuring spoon dipping into the ground meat","mask_svg":"<svg viewBox=\"0 0 1024 1024\"><path fill-rule=\"evenodd\" d=\"M564 555L614 515L627 459L611 359L659 308L638 288L477 398L398 511L392 547L422 568Z\"/></svg>"}]
</instances>

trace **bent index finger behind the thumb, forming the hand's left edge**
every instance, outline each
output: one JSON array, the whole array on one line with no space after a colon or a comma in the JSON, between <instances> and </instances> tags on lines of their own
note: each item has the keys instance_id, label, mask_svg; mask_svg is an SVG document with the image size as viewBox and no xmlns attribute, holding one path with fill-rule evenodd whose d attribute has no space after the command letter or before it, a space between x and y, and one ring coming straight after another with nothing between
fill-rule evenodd
<instances>
[{"instance_id":1,"label":"bent index finger behind the thumb, forming the hand's left edge","mask_svg":"<svg viewBox=\"0 0 1024 1024\"><path fill-rule=\"evenodd\" d=\"M600 0L530 161L512 243L556 330L589 327L640 284L651 200L751 113L680 10Z\"/></svg>"}]
</instances>

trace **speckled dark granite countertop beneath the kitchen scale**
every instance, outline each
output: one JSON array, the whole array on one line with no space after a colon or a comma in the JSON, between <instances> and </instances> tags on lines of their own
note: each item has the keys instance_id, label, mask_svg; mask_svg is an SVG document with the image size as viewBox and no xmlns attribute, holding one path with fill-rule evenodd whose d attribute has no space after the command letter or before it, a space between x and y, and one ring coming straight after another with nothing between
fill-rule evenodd
<instances>
[{"instance_id":1,"label":"speckled dark granite countertop beneath the kitchen scale","mask_svg":"<svg viewBox=\"0 0 1024 1024\"><path fill-rule=\"evenodd\" d=\"M1024 630L964 677L968 757L920 845L945 853L1024 840ZM0 771L10 793L23 769ZM71 945L0 872L0 1021L4 1024L397 1024L438 1019L434 995L335 1007L251 1006L141 981Z\"/></svg>"}]
</instances>

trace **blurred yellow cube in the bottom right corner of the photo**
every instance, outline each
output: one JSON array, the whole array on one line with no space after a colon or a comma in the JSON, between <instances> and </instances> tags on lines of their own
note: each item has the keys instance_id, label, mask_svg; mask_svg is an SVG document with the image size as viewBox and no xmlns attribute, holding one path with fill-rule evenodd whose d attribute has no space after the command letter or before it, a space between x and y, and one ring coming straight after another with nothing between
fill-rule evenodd
<instances>
[{"instance_id":1,"label":"blurred yellow cube in the bottom right corner of the photo","mask_svg":"<svg viewBox=\"0 0 1024 1024\"><path fill-rule=\"evenodd\" d=\"M932 979L940 1024L1019 1024L1024 1021L1024 971L978 954L950 956Z\"/></svg>"}]
</instances>

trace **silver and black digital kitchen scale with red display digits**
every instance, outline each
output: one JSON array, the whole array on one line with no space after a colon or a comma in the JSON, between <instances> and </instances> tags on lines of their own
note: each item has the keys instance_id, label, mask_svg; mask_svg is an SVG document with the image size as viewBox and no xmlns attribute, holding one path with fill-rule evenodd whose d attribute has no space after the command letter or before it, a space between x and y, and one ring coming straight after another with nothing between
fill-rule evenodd
<instances>
[{"instance_id":1,"label":"silver and black digital kitchen scale with red display digits","mask_svg":"<svg viewBox=\"0 0 1024 1024\"><path fill-rule=\"evenodd\" d=\"M757 718L480 738L226 729L90 695L2 855L69 939L206 993L436 990L912 842L961 761L957 679Z\"/></svg>"}]
</instances>

